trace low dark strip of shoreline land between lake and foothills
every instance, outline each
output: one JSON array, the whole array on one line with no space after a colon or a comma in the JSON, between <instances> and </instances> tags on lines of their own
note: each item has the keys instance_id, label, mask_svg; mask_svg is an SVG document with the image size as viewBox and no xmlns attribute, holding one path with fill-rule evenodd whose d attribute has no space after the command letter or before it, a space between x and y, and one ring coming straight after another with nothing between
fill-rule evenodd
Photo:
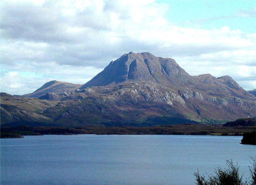
<instances>
[{"instance_id":1,"label":"low dark strip of shoreline land between lake and foothills","mask_svg":"<svg viewBox=\"0 0 256 185\"><path fill-rule=\"evenodd\" d=\"M27 123L26 123L27 124ZM107 124L106 124L107 125ZM42 134L162 134L162 135L222 135L228 133L229 136L240 135L242 133L255 130L255 127L232 128L209 124L176 124L160 126L142 126L135 124L131 126L14 126L1 127L0 131L6 133L18 133L23 136Z\"/></svg>"}]
</instances>

